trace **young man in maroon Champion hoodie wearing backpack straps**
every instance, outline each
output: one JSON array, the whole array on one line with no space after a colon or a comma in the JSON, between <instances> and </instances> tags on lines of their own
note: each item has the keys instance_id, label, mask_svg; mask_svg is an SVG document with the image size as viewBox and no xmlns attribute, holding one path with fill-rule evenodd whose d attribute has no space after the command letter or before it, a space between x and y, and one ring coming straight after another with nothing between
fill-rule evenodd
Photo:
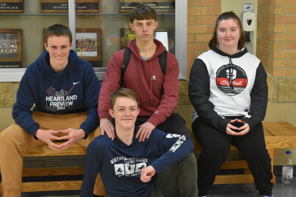
<instances>
[{"instance_id":1,"label":"young man in maroon Champion hoodie wearing backpack straps","mask_svg":"<svg viewBox=\"0 0 296 197\"><path fill-rule=\"evenodd\" d=\"M185 120L173 113L178 104L179 64L176 57L167 52L165 72L162 71L159 56L166 48L159 40L153 39L158 25L156 16L150 6L136 6L130 12L130 28L135 31L136 39L128 43L131 57L123 78L121 69L125 50L115 52L107 65L98 112L102 135L106 132L111 139L115 138L115 134L108 113L109 99L119 87L132 89L139 96L141 111L136 120L136 125L140 127L136 134L139 141L148 139L154 128L191 138Z\"/></svg>"}]
</instances>

